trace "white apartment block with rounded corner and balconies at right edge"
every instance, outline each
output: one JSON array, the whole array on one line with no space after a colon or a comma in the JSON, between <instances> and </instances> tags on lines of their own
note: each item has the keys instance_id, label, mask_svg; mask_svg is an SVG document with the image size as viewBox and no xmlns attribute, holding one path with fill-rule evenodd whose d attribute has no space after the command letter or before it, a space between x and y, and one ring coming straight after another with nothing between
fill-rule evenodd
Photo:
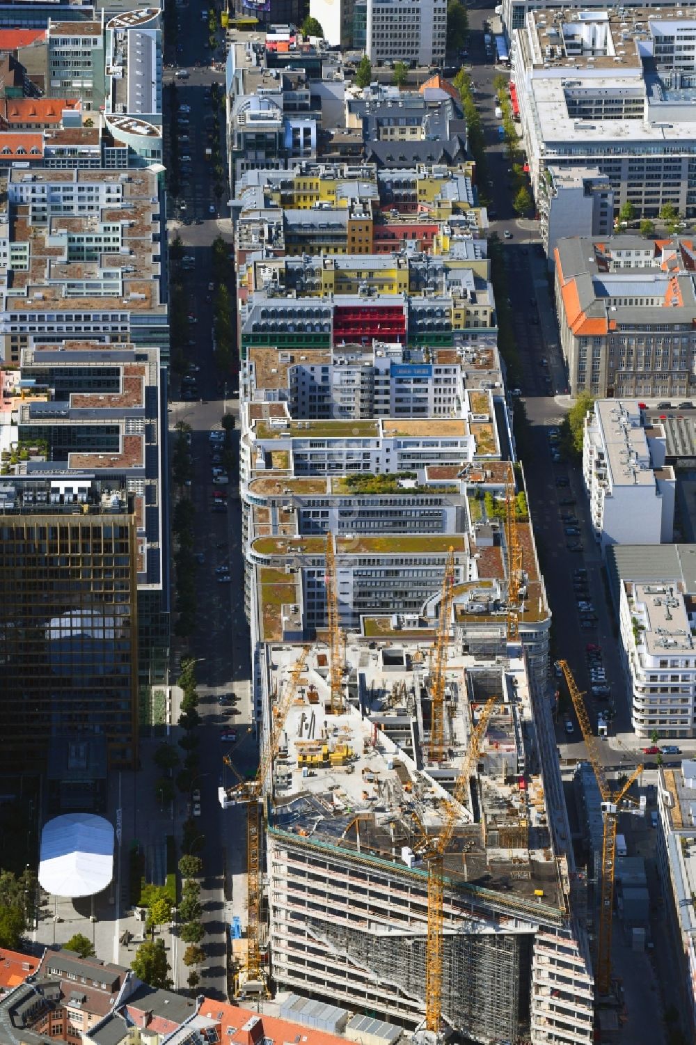
<instances>
[{"instance_id":1,"label":"white apartment block with rounded corner and balconies at right edge","mask_svg":"<svg viewBox=\"0 0 696 1045\"><path fill-rule=\"evenodd\" d=\"M678 577L660 583L623 581L619 623L635 734L696 736L695 621L689 587Z\"/></svg>"}]
</instances>

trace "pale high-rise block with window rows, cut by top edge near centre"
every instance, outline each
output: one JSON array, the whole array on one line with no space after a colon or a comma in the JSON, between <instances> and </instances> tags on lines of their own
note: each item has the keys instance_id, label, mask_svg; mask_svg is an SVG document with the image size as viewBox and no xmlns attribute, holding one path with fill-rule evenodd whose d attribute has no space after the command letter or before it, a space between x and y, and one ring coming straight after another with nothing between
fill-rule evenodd
<instances>
[{"instance_id":1,"label":"pale high-rise block with window rows, cut by top edge near centre","mask_svg":"<svg viewBox=\"0 0 696 1045\"><path fill-rule=\"evenodd\" d=\"M441 65L445 54L445 0L367 0L365 50L374 65Z\"/></svg>"}]
</instances>

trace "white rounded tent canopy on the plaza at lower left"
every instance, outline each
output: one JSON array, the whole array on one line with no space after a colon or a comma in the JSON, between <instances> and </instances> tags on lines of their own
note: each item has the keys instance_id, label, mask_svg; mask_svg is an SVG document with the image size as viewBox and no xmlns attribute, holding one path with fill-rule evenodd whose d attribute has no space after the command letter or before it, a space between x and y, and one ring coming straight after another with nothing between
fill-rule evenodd
<instances>
[{"instance_id":1,"label":"white rounded tent canopy on the plaza at lower left","mask_svg":"<svg viewBox=\"0 0 696 1045\"><path fill-rule=\"evenodd\" d=\"M114 829L102 816L67 813L41 832L39 883L56 897L90 897L113 878Z\"/></svg>"}]
</instances>

